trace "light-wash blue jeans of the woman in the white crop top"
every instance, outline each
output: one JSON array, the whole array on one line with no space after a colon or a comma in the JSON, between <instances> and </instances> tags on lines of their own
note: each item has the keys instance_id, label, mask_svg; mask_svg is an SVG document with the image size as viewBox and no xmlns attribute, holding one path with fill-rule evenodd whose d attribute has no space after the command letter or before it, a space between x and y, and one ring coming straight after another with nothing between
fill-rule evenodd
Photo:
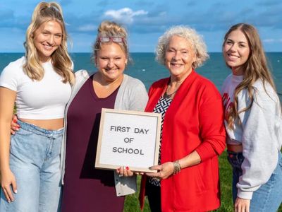
<instances>
[{"instance_id":1,"label":"light-wash blue jeans of the woman in the white crop top","mask_svg":"<svg viewBox=\"0 0 282 212\"><path fill-rule=\"evenodd\" d=\"M46 130L18 121L11 136L10 168L17 194L10 204L1 191L0 211L56 212L61 197L60 150L63 129Z\"/></svg>"}]
</instances>

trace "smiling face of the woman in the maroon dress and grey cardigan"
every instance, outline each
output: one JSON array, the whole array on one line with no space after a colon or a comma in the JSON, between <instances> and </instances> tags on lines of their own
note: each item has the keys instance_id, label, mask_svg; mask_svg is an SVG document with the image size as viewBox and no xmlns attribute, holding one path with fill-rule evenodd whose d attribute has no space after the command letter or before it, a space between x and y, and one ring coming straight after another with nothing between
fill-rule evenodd
<instances>
[{"instance_id":1,"label":"smiling face of the woman in the maroon dress and grey cardigan","mask_svg":"<svg viewBox=\"0 0 282 212\"><path fill-rule=\"evenodd\" d=\"M97 68L106 81L116 81L123 77L127 62L125 52L115 42L102 43L97 52Z\"/></svg>"}]
</instances>

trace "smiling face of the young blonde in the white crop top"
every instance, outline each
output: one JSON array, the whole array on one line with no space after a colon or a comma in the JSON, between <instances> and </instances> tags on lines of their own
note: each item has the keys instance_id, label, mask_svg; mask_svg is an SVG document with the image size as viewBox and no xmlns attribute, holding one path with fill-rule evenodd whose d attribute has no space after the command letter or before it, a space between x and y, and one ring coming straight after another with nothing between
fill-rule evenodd
<instances>
[{"instance_id":1,"label":"smiling face of the young blonde in the white crop top","mask_svg":"<svg viewBox=\"0 0 282 212\"><path fill-rule=\"evenodd\" d=\"M61 45L62 37L61 25L56 20L44 22L35 30L33 42L40 61L49 61L51 54Z\"/></svg>"}]
</instances>

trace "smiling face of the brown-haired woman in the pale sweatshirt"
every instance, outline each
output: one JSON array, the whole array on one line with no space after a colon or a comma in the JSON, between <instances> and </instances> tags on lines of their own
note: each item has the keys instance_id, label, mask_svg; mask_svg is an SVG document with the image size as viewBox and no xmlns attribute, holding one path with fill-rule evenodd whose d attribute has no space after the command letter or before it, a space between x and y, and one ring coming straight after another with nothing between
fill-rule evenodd
<instances>
[{"instance_id":1,"label":"smiling face of the brown-haired woman in the pale sweatshirt","mask_svg":"<svg viewBox=\"0 0 282 212\"><path fill-rule=\"evenodd\" d=\"M250 56L247 37L238 29L232 31L223 44L223 57L234 75L243 75L242 66Z\"/></svg>"}]
</instances>

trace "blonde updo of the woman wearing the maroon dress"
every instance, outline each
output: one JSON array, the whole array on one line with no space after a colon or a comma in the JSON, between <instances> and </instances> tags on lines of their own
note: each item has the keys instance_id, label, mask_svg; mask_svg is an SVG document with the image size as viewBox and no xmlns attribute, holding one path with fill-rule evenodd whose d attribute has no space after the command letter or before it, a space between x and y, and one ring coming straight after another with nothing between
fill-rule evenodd
<instances>
[{"instance_id":1,"label":"blonde updo of the woman wearing the maroon dress","mask_svg":"<svg viewBox=\"0 0 282 212\"><path fill-rule=\"evenodd\" d=\"M128 33L125 28L114 21L104 20L97 30L97 37L93 45L93 54L92 61L95 61L97 57L97 52L101 49L101 42L99 41L99 37L122 37L123 42L116 42L117 45L123 49L126 58L128 61L132 61L128 51Z\"/></svg>"}]
</instances>

